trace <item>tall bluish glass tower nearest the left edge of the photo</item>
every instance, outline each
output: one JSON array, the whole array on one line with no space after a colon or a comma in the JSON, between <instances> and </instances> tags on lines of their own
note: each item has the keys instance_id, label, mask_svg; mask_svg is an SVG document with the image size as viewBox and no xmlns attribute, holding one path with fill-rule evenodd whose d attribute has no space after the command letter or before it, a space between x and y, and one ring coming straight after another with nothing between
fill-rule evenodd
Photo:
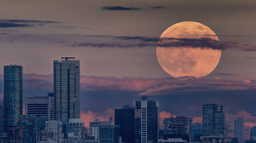
<instances>
[{"instance_id":1,"label":"tall bluish glass tower nearest the left edge of the photo","mask_svg":"<svg viewBox=\"0 0 256 143\"><path fill-rule=\"evenodd\" d=\"M22 115L22 66L3 66L3 84L4 132L14 135Z\"/></svg>"}]
</instances>

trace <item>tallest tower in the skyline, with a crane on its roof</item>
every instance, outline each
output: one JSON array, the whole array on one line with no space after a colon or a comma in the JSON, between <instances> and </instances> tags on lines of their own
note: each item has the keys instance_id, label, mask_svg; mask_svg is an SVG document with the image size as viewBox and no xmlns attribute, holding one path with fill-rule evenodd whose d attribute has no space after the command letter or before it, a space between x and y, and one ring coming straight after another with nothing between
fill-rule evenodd
<instances>
[{"instance_id":1,"label":"tallest tower in the skyline, with a crane on its roof","mask_svg":"<svg viewBox=\"0 0 256 143\"><path fill-rule=\"evenodd\" d=\"M54 118L65 125L70 118L80 118L80 67L74 57L54 60Z\"/></svg>"}]
</instances>

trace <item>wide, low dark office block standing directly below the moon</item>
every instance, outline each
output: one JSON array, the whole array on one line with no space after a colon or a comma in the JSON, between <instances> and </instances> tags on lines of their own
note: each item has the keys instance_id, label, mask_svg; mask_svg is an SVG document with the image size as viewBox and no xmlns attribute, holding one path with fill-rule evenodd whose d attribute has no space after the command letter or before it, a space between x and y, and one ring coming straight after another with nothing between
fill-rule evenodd
<instances>
[{"instance_id":1,"label":"wide, low dark office block standing directly below the moon","mask_svg":"<svg viewBox=\"0 0 256 143\"><path fill-rule=\"evenodd\" d=\"M184 116L164 118L165 139L182 138L183 140L191 142L192 120L192 117Z\"/></svg>"}]
</instances>

